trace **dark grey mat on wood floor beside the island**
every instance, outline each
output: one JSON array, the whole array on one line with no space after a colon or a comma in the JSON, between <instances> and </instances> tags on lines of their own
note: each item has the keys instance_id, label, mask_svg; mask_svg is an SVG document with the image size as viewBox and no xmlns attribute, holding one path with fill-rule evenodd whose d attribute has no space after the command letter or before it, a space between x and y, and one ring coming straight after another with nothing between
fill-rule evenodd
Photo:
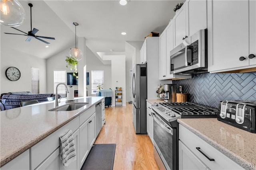
<instances>
[{"instance_id":1,"label":"dark grey mat on wood floor beside the island","mask_svg":"<svg viewBox=\"0 0 256 170\"><path fill-rule=\"evenodd\" d=\"M112 170L116 144L94 144L81 170Z\"/></svg>"}]
</instances>

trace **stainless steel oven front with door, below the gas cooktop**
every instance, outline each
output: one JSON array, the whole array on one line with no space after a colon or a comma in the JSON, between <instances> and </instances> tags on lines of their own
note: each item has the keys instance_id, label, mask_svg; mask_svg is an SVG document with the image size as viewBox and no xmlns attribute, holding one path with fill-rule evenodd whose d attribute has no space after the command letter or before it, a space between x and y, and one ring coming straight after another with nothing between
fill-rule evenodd
<instances>
[{"instance_id":1,"label":"stainless steel oven front with door, below the gas cooktop","mask_svg":"<svg viewBox=\"0 0 256 170\"><path fill-rule=\"evenodd\" d=\"M177 169L177 129L172 128L169 123L156 113L153 115L153 143L154 157L160 170Z\"/></svg>"}]
</instances>

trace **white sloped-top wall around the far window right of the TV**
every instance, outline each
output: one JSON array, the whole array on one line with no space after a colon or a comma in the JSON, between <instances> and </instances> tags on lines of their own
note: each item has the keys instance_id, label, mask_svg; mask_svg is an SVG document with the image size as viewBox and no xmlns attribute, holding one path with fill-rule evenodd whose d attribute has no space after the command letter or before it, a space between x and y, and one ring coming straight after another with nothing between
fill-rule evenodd
<instances>
[{"instance_id":1,"label":"white sloped-top wall around the far window right of the TV","mask_svg":"<svg viewBox=\"0 0 256 170\"><path fill-rule=\"evenodd\" d=\"M112 88L112 78L111 78L111 65L103 64L98 57L92 53L92 51L86 47L86 72L89 72L89 85L88 85L88 96L95 96L92 94L92 70L104 70L104 89ZM114 89L112 88L112 91ZM113 98L113 96L112 96ZM113 104L113 103L112 103Z\"/></svg>"}]
</instances>

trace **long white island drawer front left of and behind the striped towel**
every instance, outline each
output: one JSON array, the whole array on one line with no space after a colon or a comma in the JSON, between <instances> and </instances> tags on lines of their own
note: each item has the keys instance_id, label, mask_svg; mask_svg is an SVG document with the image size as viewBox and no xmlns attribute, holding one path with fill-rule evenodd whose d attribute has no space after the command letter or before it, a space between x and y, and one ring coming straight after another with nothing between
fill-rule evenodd
<instances>
[{"instance_id":1,"label":"long white island drawer front left of and behind the striped towel","mask_svg":"<svg viewBox=\"0 0 256 170\"><path fill-rule=\"evenodd\" d=\"M34 145L30 148L30 164L31 168L35 169L41 162L43 162L55 149L60 146L59 137L68 129L74 133L78 129L79 117L76 117L66 125Z\"/></svg>"}]
</instances>

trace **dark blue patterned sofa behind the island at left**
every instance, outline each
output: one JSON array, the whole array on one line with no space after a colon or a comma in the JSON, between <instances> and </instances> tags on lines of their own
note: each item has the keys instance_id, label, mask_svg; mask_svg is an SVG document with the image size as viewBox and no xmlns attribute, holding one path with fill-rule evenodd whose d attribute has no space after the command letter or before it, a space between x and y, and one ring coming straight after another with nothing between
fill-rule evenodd
<instances>
[{"instance_id":1,"label":"dark blue patterned sofa behind the island at left","mask_svg":"<svg viewBox=\"0 0 256 170\"><path fill-rule=\"evenodd\" d=\"M48 97L53 97L55 94L31 94L31 92L9 92L3 93L0 97L0 108L2 110L13 109L20 107L20 102L38 100L39 103L47 102ZM60 95L58 95L60 98Z\"/></svg>"}]
</instances>

